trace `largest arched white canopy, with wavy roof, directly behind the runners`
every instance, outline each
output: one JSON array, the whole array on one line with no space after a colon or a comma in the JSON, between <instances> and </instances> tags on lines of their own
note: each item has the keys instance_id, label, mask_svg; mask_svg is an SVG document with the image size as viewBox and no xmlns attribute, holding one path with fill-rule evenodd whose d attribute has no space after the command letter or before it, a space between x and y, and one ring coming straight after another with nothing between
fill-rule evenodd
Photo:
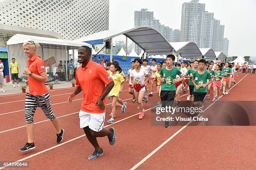
<instances>
[{"instance_id":1,"label":"largest arched white canopy, with wavy roof, directly behind the runners","mask_svg":"<svg viewBox=\"0 0 256 170\"><path fill-rule=\"evenodd\" d=\"M173 47L164 38L164 36L154 28L147 26L138 26L123 31L101 31L86 37L79 38L76 41L88 42L90 44L102 44L103 42L110 41L111 38L122 34L127 36L150 55L172 53Z\"/></svg>"}]
</instances>

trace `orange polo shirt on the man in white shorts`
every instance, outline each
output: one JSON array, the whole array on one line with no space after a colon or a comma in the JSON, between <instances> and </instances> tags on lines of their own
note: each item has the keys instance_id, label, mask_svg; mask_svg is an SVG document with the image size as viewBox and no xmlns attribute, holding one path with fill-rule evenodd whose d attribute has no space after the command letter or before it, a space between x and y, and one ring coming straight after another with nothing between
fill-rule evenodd
<instances>
[{"instance_id":1,"label":"orange polo shirt on the man in white shorts","mask_svg":"<svg viewBox=\"0 0 256 170\"><path fill-rule=\"evenodd\" d=\"M104 113L100 111L100 107L95 105L105 90L105 85L108 85L113 79L102 65L90 60L85 68L80 65L76 72L77 86L80 86L83 91L84 99L82 101L81 110L88 113ZM103 100L106 105L106 100Z\"/></svg>"}]
</instances>

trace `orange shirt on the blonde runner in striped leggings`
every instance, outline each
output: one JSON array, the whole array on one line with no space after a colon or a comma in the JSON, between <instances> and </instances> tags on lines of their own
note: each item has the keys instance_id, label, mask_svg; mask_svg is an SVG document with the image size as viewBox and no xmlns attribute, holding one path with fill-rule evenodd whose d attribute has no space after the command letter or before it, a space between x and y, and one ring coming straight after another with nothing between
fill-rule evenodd
<instances>
[{"instance_id":1,"label":"orange shirt on the blonde runner in striped leggings","mask_svg":"<svg viewBox=\"0 0 256 170\"><path fill-rule=\"evenodd\" d=\"M41 72L46 71L44 61L35 54L31 59L27 60L28 70L33 74L40 75ZM44 95L49 93L44 82L38 81L35 78L28 76L28 93L31 95Z\"/></svg>"}]
</instances>

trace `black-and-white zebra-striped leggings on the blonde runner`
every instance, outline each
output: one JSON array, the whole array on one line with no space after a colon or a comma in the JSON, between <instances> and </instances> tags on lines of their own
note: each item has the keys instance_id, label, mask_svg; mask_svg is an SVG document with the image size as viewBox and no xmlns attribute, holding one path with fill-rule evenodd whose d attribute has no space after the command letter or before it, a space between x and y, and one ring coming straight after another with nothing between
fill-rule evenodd
<instances>
[{"instance_id":1,"label":"black-and-white zebra-striped leggings on the blonde runner","mask_svg":"<svg viewBox=\"0 0 256 170\"><path fill-rule=\"evenodd\" d=\"M26 94L25 100L25 119L26 123L32 123L36 108L41 107L44 114L49 120L54 120L55 115L51 108L50 93L36 96L29 93Z\"/></svg>"}]
</instances>

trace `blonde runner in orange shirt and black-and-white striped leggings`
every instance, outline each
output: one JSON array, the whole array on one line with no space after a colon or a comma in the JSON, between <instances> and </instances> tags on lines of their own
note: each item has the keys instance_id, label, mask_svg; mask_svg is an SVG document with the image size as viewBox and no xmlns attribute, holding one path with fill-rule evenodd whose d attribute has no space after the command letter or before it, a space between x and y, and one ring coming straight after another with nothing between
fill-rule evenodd
<instances>
[{"instance_id":1,"label":"blonde runner in orange shirt and black-and-white striped leggings","mask_svg":"<svg viewBox=\"0 0 256 170\"><path fill-rule=\"evenodd\" d=\"M40 45L37 42L28 41L23 43L23 47L25 55L28 57L28 68L24 68L23 73L29 75L28 80L25 81L29 85L29 91L26 94L25 100L25 119L28 142L20 149L21 152L36 148L33 139L33 117L36 112L36 107L41 107L46 117L49 118L54 125L57 134L57 143L60 143L63 140L64 134L64 130L60 129L59 120L54 115L51 108L49 91L44 85L44 83L47 82L44 61L36 54L36 50Z\"/></svg>"}]
</instances>

